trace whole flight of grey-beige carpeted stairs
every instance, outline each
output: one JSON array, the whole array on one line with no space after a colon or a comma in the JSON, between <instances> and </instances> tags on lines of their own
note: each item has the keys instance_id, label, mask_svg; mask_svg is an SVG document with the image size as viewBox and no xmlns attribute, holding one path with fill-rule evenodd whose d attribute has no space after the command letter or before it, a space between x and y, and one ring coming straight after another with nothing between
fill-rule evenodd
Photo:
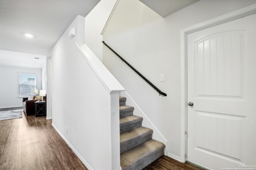
<instances>
[{"instance_id":1,"label":"whole flight of grey-beige carpeted stairs","mask_svg":"<svg viewBox=\"0 0 256 170\"><path fill-rule=\"evenodd\" d=\"M120 164L122 170L141 170L164 154L165 145L152 139L153 130L142 127L142 117L133 115L134 107L120 105Z\"/></svg>"}]
</instances>

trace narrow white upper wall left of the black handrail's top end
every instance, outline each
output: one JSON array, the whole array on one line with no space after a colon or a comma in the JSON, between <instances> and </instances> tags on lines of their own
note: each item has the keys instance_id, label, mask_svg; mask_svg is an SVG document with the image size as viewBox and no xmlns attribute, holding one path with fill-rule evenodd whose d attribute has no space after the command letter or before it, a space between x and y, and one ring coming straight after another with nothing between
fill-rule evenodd
<instances>
[{"instance_id":1,"label":"narrow white upper wall left of the black handrail's top end","mask_svg":"<svg viewBox=\"0 0 256 170\"><path fill-rule=\"evenodd\" d=\"M85 43L103 62L103 37L101 32L116 0L101 0L85 17Z\"/></svg>"}]
</instances>

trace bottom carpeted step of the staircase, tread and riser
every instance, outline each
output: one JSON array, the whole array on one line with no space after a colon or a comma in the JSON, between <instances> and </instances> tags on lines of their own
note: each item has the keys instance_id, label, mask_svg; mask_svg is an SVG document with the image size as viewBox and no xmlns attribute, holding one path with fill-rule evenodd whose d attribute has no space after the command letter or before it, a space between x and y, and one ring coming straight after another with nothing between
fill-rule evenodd
<instances>
[{"instance_id":1,"label":"bottom carpeted step of the staircase, tread and riser","mask_svg":"<svg viewBox=\"0 0 256 170\"><path fill-rule=\"evenodd\" d=\"M165 145L154 139L120 154L122 170L141 170L164 154Z\"/></svg>"}]
</instances>

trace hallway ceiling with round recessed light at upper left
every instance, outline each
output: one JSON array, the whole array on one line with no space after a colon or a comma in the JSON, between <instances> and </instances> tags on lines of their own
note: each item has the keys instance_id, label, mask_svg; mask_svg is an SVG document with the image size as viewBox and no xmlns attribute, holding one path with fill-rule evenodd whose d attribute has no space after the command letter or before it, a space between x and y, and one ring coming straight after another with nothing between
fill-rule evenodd
<instances>
[{"instance_id":1,"label":"hallway ceiling with round recessed light at upper left","mask_svg":"<svg viewBox=\"0 0 256 170\"><path fill-rule=\"evenodd\" d=\"M22 53L44 58L76 16L85 17L99 1L0 0L0 65L8 63L4 61L6 57L15 63ZM27 38L24 33L34 37ZM24 60L33 62L34 55L27 55L30 57ZM24 56L20 55L20 59ZM19 62L19 66L23 64Z\"/></svg>"}]
</instances>

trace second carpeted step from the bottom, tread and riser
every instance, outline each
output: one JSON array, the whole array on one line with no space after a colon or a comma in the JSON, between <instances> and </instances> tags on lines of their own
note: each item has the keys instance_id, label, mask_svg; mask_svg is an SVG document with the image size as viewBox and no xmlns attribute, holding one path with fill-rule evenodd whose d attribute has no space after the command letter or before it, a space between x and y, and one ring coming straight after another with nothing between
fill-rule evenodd
<instances>
[{"instance_id":1,"label":"second carpeted step from the bottom, tread and riser","mask_svg":"<svg viewBox=\"0 0 256 170\"><path fill-rule=\"evenodd\" d=\"M153 130L147 127L137 127L120 133L120 153L152 139L152 133Z\"/></svg>"}]
</instances>

